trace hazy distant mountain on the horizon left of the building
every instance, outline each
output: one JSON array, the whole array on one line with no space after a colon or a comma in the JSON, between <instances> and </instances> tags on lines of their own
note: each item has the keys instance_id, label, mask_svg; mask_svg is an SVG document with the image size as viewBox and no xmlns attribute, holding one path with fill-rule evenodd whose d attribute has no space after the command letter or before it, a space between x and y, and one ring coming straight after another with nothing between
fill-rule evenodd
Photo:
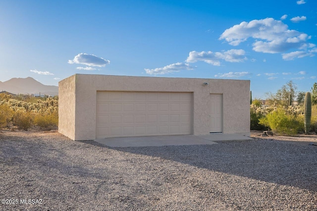
<instances>
[{"instance_id":1,"label":"hazy distant mountain on the horizon left of the building","mask_svg":"<svg viewBox=\"0 0 317 211\"><path fill-rule=\"evenodd\" d=\"M0 91L8 91L13 94L48 94L58 95L58 86L44 85L35 79L12 78L6 82L0 82Z\"/></svg>"}]
</instances>

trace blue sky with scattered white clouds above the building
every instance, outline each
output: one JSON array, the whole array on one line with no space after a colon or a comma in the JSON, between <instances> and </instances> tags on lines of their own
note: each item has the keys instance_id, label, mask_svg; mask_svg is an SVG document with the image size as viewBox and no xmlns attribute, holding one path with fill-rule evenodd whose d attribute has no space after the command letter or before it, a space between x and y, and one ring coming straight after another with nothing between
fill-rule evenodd
<instances>
[{"instance_id":1,"label":"blue sky with scattered white clouds above the building","mask_svg":"<svg viewBox=\"0 0 317 211\"><path fill-rule=\"evenodd\" d=\"M238 3L237 3L238 2ZM0 81L73 74L317 82L316 0L1 0Z\"/></svg>"}]
</instances>

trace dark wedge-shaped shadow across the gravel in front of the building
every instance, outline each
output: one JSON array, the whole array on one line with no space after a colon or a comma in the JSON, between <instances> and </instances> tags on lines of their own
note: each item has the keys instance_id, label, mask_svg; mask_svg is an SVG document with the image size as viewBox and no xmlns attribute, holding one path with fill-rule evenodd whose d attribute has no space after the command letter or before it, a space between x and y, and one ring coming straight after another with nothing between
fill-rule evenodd
<instances>
[{"instance_id":1,"label":"dark wedge-shaped shadow across the gravel in front of the building","mask_svg":"<svg viewBox=\"0 0 317 211\"><path fill-rule=\"evenodd\" d=\"M317 147L276 140L214 145L107 147L198 168L317 191Z\"/></svg>"}]
</instances>

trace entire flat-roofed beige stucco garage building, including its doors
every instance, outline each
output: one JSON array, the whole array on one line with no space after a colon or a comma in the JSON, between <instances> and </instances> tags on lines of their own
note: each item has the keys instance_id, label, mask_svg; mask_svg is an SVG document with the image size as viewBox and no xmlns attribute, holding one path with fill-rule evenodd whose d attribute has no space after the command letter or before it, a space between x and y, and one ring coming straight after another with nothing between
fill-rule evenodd
<instances>
[{"instance_id":1,"label":"entire flat-roofed beige stucco garage building, including its doors","mask_svg":"<svg viewBox=\"0 0 317 211\"><path fill-rule=\"evenodd\" d=\"M59 82L58 131L73 140L250 135L250 81L76 74Z\"/></svg>"}]
</instances>

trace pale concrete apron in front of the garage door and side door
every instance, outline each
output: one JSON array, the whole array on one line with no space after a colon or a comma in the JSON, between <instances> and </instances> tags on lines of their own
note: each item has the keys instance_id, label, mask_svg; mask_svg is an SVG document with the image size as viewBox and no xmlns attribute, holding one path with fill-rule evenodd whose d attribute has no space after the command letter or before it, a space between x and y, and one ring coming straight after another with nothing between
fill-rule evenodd
<instances>
[{"instance_id":1,"label":"pale concrete apron in front of the garage door and side door","mask_svg":"<svg viewBox=\"0 0 317 211\"><path fill-rule=\"evenodd\" d=\"M216 144L214 141L253 140L240 134L208 134L208 135L160 135L100 138L95 141L110 147L147 147L168 145L202 145Z\"/></svg>"}]
</instances>

